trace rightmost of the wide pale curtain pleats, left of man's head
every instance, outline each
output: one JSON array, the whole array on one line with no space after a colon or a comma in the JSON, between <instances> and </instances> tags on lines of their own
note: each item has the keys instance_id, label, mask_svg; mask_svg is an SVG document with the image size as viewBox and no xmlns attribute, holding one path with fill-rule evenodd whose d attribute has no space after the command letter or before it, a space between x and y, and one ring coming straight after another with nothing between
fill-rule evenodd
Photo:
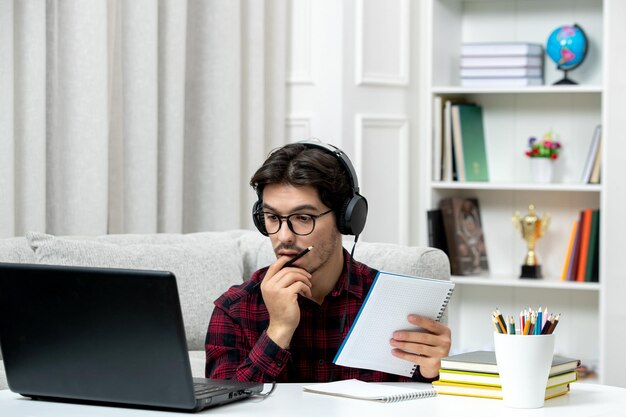
<instances>
[{"instance_id":1,"label":"rightmost of the wide pale curtain pleats, left of man's head","mask_svg":"<svg viewBox=\"0 0 626 417\"><path fill-rule=\"evenodd\" d=\"M240 227L241 10L231 0L188 11L183 230ZM208 59L208 57L211 57Z\"/></svg>"}]
</instances>

